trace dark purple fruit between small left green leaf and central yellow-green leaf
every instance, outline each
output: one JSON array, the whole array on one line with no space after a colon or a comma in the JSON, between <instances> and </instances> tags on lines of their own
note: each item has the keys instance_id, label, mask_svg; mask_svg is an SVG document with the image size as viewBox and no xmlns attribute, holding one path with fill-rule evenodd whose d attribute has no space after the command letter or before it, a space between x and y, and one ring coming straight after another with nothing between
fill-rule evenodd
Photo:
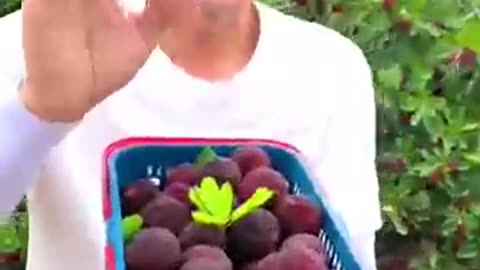
<instances>
[{"instance_id":1,"label":"dark purple fruit between small left green leaf and central yellow-green leaf","mask_svg":"<svg viewBox=\"0 0 480 270\"><path fill-rule=\"evenodd\" d=\"M160 227L178 235L190 222L190 207L168 195L159 195L140 212L147 227Z\"/></svg>"}]
</instances>

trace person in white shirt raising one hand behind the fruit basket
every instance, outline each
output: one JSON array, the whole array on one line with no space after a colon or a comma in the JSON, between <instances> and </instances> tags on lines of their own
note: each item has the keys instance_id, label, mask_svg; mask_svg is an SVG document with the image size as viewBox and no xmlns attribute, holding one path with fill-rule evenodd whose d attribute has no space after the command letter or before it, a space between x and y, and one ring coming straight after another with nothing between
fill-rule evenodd
<instances>
[{"instance_id":1,"label":"person in white shirt raising one hand behind the fruit basket","mask_svg":"<svg viewBox=\"0 0 480 270\"><path fill-rule=\"evenodd\" d=\"M25 0L0 20L0 212L29 191L28 269L104 269L102 152L145 135L296 146L362 268L375 269L361 51L252 0L138 1Z\"/></svg>"}]
</instances>

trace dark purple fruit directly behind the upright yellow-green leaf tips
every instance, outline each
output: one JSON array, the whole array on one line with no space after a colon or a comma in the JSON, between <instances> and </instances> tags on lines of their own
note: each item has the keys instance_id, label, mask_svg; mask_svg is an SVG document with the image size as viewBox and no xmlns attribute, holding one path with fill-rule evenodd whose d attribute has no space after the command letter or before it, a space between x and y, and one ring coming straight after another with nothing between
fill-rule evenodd
<instances>
[{"instance_id":1,"label":"dark purple fruit directly behind the upright yellow-green leaf tips","mask_svg":"<svg viewBox=\"0 0 480 270\"><path fill-rule=\"evenodd\" d=\"M207 163L202 169L202 177L211 176L219 185L230 182L234 188L242 179L242 173L235 161L229 158L218 158Z\"/></svg>"}]
</instances>

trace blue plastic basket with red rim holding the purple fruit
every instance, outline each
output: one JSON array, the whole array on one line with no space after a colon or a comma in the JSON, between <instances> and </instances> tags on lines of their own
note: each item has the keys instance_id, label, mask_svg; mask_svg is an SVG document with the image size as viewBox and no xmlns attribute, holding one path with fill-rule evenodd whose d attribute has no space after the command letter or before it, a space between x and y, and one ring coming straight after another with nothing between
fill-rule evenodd
<instances>
[{"instance_id":1,"label":"blue plastic basket with red rim holding the purple fruit","mask_svg":"<svg viewBox=\"0 0 480 270\"><path fill-rule=\"evenodd\" d=\"M108 270L125 270L124 245L121 232L120 189L135 179L159 177L167 168L193 161L205 146L212 146L221 156L245 144L255 144L267 151L275 169L285 175L294 193L308 197L323 209L320 232L330 270L361 270L335 224L327 204L316 194L308 173L299 159L299 152L283 143L247 139L190 138L127 138L113 143L104 157L104 212L107 224L106 264ZM151 175L154 172L156 175Z\"/></svg>"}]
</instances>

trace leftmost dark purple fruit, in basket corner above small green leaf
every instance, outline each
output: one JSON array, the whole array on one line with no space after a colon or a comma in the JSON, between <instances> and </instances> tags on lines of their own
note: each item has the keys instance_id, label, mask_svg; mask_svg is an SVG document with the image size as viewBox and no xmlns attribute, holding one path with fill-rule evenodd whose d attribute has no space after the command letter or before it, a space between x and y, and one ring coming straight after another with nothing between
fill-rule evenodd
<instances>
[{"instance_id":1,"label":"leftmost dark purple fruit, in basket corner above small green leaf","mask_svg":"<svg viewBox=\"0 0 480 270\"><path fill-rule=\"evenodd\" d=\"M123 191L123 211L125 215L136 214L159 193L158 186L147 179L135 181Z\"/></svg>"}]
</instances>

